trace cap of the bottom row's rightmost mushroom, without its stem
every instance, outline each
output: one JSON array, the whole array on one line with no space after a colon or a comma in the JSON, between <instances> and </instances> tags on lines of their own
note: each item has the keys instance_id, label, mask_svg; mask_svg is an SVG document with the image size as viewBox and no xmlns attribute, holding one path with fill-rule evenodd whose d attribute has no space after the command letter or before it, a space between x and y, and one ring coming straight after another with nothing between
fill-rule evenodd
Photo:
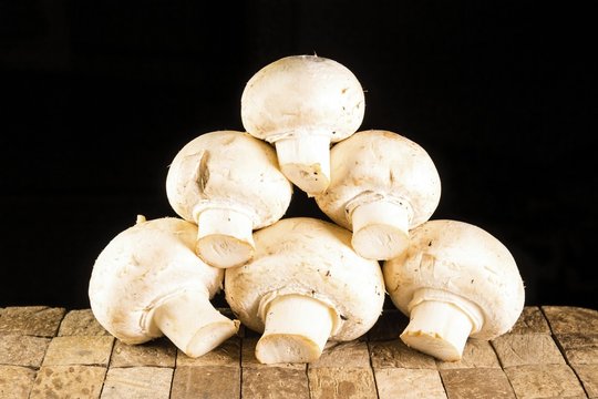
<instances>
[{"instance_id":1,"label":"cap of the bottom row's rightmost mushroom, without its stem","mask_svg":"<svg viewBox=\"0 0 598 399\"><path fill-rule=\"evenodd\" d=\"M410 233L404 257L383 264L392 303L405 315L419 288L456 294L478 306L484 321L471 337L492 339L508 331L525 300L511 252L486 231L448 219L429 221Z\"/></svg>"}]
</instances>

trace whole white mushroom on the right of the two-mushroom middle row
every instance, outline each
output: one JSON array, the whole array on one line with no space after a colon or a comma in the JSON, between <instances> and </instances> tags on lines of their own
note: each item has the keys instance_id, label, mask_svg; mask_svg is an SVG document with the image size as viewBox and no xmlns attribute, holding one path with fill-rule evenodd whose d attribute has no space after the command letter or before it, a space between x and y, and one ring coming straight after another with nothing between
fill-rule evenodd
<instances>
[{"instance_id":1,"label":"whole white mushroom on the right of the two-mushroom middle row","mask_svg":"<svg viewBox=\"0 0 598 399\"><path fill-rule=\"evenodd\" d=\"M409 229L427 221L441 196L432 158L419 144L389 131L353 134L330 152L330 185L320 209L353 231L353 248L370 259L401 255Z\"/></svg>"}]
</instances>

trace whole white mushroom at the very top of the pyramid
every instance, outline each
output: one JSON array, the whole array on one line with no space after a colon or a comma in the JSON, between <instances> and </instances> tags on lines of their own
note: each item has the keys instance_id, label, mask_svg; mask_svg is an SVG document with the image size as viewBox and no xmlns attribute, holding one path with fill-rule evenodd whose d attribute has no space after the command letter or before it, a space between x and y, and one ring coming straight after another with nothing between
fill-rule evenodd
<instances>
[{"instance_id":1,"label":"whole white mushroom at the very top of the pyramid","mask_svg":"<svg viewBox=\"0 0 598 399\"><path fill-rule=\"evenodd\" d=\"M279 59L259 70L241 95L247 132L276 145L285 175L312 195L330 181L330 143L353 134L364 94L355 75L317 55Z\"/></svg>"}]
</instances>

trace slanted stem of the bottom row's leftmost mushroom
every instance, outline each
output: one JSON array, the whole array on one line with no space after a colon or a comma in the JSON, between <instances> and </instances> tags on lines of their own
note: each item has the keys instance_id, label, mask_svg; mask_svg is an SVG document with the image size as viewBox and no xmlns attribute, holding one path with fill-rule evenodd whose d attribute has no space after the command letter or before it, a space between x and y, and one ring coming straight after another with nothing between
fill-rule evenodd
<instances>
[{"instance_id":1,"label":"slanted stem of the bottom row's leftmost mushroom","mask_svg":"<svg viewBox=\"0 0 598 399\"><path fill-rule=\"evenodd\" d=\"M209 301L207 291L184 290L154 309L155 326L189 357L199 357L237 334L230 320Z\"/></svg>"}]
</instances>

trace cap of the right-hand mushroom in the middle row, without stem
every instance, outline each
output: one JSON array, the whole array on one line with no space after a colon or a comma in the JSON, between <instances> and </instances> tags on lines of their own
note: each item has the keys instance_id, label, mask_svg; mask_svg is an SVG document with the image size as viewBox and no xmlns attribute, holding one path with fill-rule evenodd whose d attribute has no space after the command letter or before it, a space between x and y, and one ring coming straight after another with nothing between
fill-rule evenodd
<instances>
[{"instance_id":1,"label":"cap of the right-hand mushroom in the middle row, without stem","mask_svg":"<svg viewBox=\"0 0 598 399\"><path fill-rule=\"evenodd\" d=\"M384 130L353 134L330 151L328 188L315 196L320 209L351 229L348 205L364 198L406 202L410 228L427 221L440 203L441 180L434 162L417 143Z\"/></svg>"}]
</instances>

